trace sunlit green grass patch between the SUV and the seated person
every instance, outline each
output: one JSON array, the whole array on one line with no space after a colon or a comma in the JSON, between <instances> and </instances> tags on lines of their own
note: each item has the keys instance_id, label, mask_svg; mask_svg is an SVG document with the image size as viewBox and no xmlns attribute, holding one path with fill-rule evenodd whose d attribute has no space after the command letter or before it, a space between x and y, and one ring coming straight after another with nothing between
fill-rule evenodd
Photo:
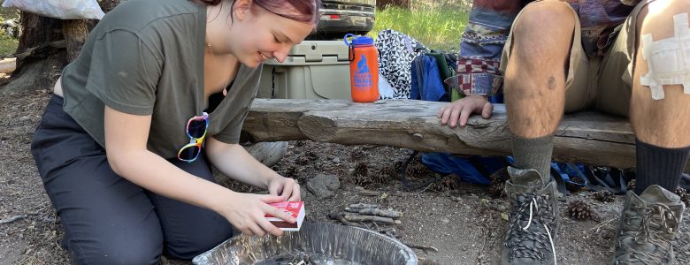
<instances>
[{"instance_id":1,"label":"sunlit green grass patch between the SUV and the seated person","mask_svg":"<svg viewBox=\"0 0 690 265\"><path fill-rule=\"evenodd\" d=\"M426 4L410 10L388 6L376 11L376 22L369 35L375 37L380 30L391 28L429 49L457 50L469 18L470 12L462 5Z\"/></svg>"}]
</instances>

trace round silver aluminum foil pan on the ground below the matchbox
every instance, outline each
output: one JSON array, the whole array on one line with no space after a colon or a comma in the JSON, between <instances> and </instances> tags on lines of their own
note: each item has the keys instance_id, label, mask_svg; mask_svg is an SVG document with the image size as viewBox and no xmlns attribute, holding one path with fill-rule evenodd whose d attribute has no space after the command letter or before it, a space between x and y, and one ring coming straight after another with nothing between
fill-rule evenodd
<instances>
[{"instance_id":1,"label":"round silver aluminum foil pan on the ground below the matchbox","mask_svg":"<svg viewBox=\"0 0 690 265\"><path fill-rule=\"evenodd\" d=\"M235 264L405 264L417 255L400 241L357 227L304 222L280 237L238 235L192 261L196 265Z\"/></svg>"}]
</instances>

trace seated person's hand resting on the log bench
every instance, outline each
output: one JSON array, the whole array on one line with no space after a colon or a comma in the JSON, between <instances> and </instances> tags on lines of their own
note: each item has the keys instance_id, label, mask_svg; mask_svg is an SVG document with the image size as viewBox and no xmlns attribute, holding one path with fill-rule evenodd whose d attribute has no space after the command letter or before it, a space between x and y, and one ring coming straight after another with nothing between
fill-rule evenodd
<instances>
[{"instance_id":1,"label":"seated person's hand resting on the log bench","mask_svg":"<svg viewBox=\"0 0 690 265\"><path fill-rule=\"evenodd\" d=\"M441 125L449 125L455 128L467 124L467 119L472 113L481 114L483 118L491 117L494 105L487 101L484 95L468 95L464 98L451 102L439 110L438 117L441 117Z\"/></svg>"}]
</instances>

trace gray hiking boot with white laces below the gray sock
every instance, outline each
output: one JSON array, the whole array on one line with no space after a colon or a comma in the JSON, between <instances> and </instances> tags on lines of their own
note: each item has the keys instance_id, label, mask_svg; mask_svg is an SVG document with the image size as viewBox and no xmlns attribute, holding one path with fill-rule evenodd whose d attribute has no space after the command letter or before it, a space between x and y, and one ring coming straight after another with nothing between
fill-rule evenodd
<instances>
[{"instance_id":1,"label":"gray hiking boot with white laces below the gray sock","mask_svg":"<svg viewBox=\"0 0 690 265\"><path fill-rule=\"evenodd\" d=\"M537 170L508 167L508 231L501 264L556 264L556 183L544 184Z\"/></svg>"}]
</instances>

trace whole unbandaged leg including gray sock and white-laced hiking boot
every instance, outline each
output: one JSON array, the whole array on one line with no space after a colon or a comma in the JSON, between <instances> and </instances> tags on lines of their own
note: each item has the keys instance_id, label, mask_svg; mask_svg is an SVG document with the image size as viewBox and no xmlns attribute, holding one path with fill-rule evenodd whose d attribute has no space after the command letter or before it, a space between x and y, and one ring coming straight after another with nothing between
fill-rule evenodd
<instances>
[{"instance_id":1,"label":"whole unbandaged leg including gray sock and white-laced hiking boot","mask_svg":"<svg viewBox=\"0 0 690 265\"><path fill-rule=\"evenodd\" d=\"M556 259L558 211L549 166L552 133L565 105L573 33L579 30L576 18L564 2L529 4L513 24L511 45L504 48L510 49L504 93L517 168L508 169L509 229L502 264L553 264Z\"/></svg>"}]
</instances>

